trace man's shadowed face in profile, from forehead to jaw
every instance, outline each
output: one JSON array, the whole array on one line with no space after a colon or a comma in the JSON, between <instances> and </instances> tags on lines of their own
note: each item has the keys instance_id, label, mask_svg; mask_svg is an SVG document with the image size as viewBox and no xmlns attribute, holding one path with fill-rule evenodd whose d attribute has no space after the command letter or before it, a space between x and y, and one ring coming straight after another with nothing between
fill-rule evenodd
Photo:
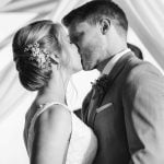
<instances>
[{"instance_id":1,"label":"man's shadowed face in profile, from forehead to jaw","mask_svg":"<svg viewBox=\"0 0 164 164\"><path fill-rule=\"evenodd\" d=\"M75 23L69 26L70 40L81 55L81 62L84 70L92 70L96 67L102 56L102 34L97 25L87 22Z\"/></svg>"}]
</instances>

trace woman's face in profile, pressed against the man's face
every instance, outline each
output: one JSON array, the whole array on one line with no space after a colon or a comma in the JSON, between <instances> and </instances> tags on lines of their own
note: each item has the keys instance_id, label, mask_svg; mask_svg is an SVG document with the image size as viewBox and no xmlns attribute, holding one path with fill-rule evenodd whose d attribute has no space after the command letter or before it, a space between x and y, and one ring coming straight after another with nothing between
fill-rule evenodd
<instances>
[{"instance_id":1,"label":"woman's face in profile, pressed against the man's face","mask_svg":"<svg viewBox=\"0 0 164 164\"><path fill-rule=\"evenodd\" d=\"M78 48L74 44L70 43L69 37L63 34L65 44L62 47L62 52L65 54L67 60L67 68L71 70L73 73L82 70L81 57L78 52Z\"/></svg>"}]
</instances>

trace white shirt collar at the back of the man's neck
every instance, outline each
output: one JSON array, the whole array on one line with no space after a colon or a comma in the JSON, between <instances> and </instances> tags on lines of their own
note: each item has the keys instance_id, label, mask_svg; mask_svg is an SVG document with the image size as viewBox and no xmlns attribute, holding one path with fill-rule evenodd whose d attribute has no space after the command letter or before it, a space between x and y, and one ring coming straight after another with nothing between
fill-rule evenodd
<instances>
[{"instance_id":1,"label":"white shirt collar at the back of the man's neck","mask_svg":"<svg viewBox=\"0 0 164 164\"><path fill-rule=\"evenodd\" d=\"M119 58L121 58L125 54L131 51L129 48L116 54L105 66L104 70L102 71L102 74L109 74L112 69L114 68L115 63L118 61Z\"/></svg>"}]
</instances>

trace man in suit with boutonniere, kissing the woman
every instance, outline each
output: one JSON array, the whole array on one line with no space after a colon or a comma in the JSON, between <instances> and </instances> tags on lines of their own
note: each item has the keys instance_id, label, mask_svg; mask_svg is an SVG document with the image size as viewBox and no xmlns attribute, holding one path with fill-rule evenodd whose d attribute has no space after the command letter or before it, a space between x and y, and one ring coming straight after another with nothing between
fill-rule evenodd
<instances>
[{"instance_id":1,"label":"man in suit with boutonniere, kissing the woman","mask_svg":"<svg viewBox=\"0 0 164 164\"><path fill-rule=\"evenodd\" d=\"M164 77L127 48L124 11L91 1L62 22L83 69L102 73L82 108L98 139L94 164L164 164Z\"/></svg>"}]
</instances>

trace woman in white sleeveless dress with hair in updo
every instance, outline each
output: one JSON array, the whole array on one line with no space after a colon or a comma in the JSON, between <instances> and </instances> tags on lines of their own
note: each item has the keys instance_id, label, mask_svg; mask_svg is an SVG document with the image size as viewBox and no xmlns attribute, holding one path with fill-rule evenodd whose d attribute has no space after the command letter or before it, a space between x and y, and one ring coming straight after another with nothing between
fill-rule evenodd
<instances>
[{"instance_id":1,"label":"woman in white sleeveless dress with hair in updo","mask_svg":"<svg viewBox=\"0 0 164 164\"><path fill-rule=\"evenodd\" d=\"M60 24L43 20L17 31L12 48L22 85L38 92L24 128L31 164L92 164L96 137L66 99L70 77L82 70L77 47Z\"/></svg>"}]
</instances>

